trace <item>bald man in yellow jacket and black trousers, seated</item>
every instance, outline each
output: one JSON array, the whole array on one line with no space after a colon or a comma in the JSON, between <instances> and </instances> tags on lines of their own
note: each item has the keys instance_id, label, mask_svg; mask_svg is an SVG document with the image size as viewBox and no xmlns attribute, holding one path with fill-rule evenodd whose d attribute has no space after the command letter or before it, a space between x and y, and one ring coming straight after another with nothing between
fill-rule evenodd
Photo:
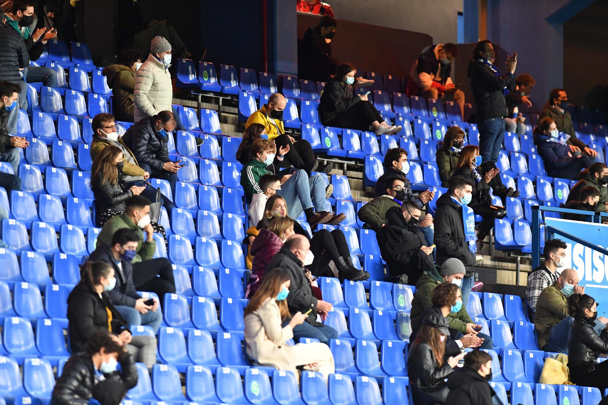
<instances>
[{"instance_id":1,"label":"bald man in yellow jacket and black trousers, seated","mask_svg":"<svg viewBox=\"0 0 608 405\"><path fill-rule=\"evenodd\" d=\"M293 103L293 101L291 101ZM268 103L261 106L258 111L255 111L249 116L245 123L245 131L253 123L264 125L266 128L266 135L268 139L274 140L277 144L277 150L280 148L286 148L289 146L289 150L285 153L285 159L279 161L274 160L275 167L289 167L293 166L297 169L303 169L310 175L311 171L322 171L323 173L330 173L333 168L331 162L326 164L320 164L314 158L313 148L310 142L306 139L295 140L293 137L285 133L285 126L283 125L283 111L287 106L287 100L280 93L272 94ZM277 156L281 157L281 156Z\"/></svg>"}]
</instances>

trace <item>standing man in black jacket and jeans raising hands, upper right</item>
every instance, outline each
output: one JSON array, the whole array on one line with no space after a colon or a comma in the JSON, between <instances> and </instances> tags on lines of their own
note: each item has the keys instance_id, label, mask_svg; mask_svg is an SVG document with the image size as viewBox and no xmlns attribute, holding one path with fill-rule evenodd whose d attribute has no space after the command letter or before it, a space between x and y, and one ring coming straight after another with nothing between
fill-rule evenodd
<instances>
[{"instance_id":1,"label":"standing man in black jacket and jeans raising hands, upper right","mask_svg":"<svg viewBox=\"0 0 608 405\"><path fill-rule=\"evenodd\" d=\"M508 56L508 55L507 55ZM473 48L473 60L469 63L468 77L471 78L471 89L477 106L477 129L479 130L479 147L482 152L482 174L496 168L502 140L505 136L507 115L505 95L515 91L515 67L517 52L506 61L507 73L500 75L494 66L496 54L488 40L479 41Z\"/></svg>"}]
</instances>

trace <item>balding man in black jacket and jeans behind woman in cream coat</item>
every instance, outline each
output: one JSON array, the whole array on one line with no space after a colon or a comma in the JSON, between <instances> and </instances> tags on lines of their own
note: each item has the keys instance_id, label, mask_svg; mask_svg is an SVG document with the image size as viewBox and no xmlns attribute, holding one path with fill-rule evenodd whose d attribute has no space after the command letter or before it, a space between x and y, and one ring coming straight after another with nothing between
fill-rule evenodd
<instances>
[{"instance_id":1,"label":"balding man in black jacket and jeans behind woman in cream coat","mask_svg":"<svg viewBox=\"0 0 608 405\"><path fill-rule=\"evenodd\" d=\"M285 241L283 247L274 255L266 271L274 268L282 268L289 272L291 285L287 296L289 313L298 311L305 314L311 310L306 322L294 327L294 341L299 338L315 338L319 342L329 344L330 339L336 339L338 334L334 328L317 322L317 313L322 320L327 319L333 305L319 300L314 296L313 286L306 275L304 263L313 262L314 255L310 251L310 242L303 235L292 235ZM286 323L289 319L286 320Z\"/></svg>"}]
</instances>

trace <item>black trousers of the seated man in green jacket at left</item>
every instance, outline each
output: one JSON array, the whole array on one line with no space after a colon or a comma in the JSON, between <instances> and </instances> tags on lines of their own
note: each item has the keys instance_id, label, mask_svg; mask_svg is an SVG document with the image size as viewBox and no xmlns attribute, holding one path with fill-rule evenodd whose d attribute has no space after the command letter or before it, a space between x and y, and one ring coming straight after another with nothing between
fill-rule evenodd
<instances>
[{"instance_id":1,"label":"black trousers of the seated man in green jacket at left","mask_svg":"<svg viewBox=\"0 0 608 405\"><path fill-rule=\"evenodd\" d=\"M175 292L171 262L159 257L133 263L133 283L138 291L156 292L162 308L165 294Z\"/></svg>"}]
</instances>

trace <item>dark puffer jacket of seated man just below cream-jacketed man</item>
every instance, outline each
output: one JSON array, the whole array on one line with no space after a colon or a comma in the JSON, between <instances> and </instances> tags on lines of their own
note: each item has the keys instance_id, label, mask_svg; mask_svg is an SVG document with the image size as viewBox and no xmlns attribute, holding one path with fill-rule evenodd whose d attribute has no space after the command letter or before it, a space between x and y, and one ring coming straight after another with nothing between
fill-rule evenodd
<instances>
[{"instance_id":1,"label":"dark puffer jacket of seated man just below cream-jacketed man","mask_svg":"<svg viewBox=\"0 0 608 405\"><path fill-rule=\"evenodd\" d=\"M153 170L162 171L165 163L171 161L168 148L170 136L173 134L162 137L156 130L154 119L150 117L131 125L122 136L122 141L133 151L139 164L147 164Z\"/></svg>"}]
</instances>

